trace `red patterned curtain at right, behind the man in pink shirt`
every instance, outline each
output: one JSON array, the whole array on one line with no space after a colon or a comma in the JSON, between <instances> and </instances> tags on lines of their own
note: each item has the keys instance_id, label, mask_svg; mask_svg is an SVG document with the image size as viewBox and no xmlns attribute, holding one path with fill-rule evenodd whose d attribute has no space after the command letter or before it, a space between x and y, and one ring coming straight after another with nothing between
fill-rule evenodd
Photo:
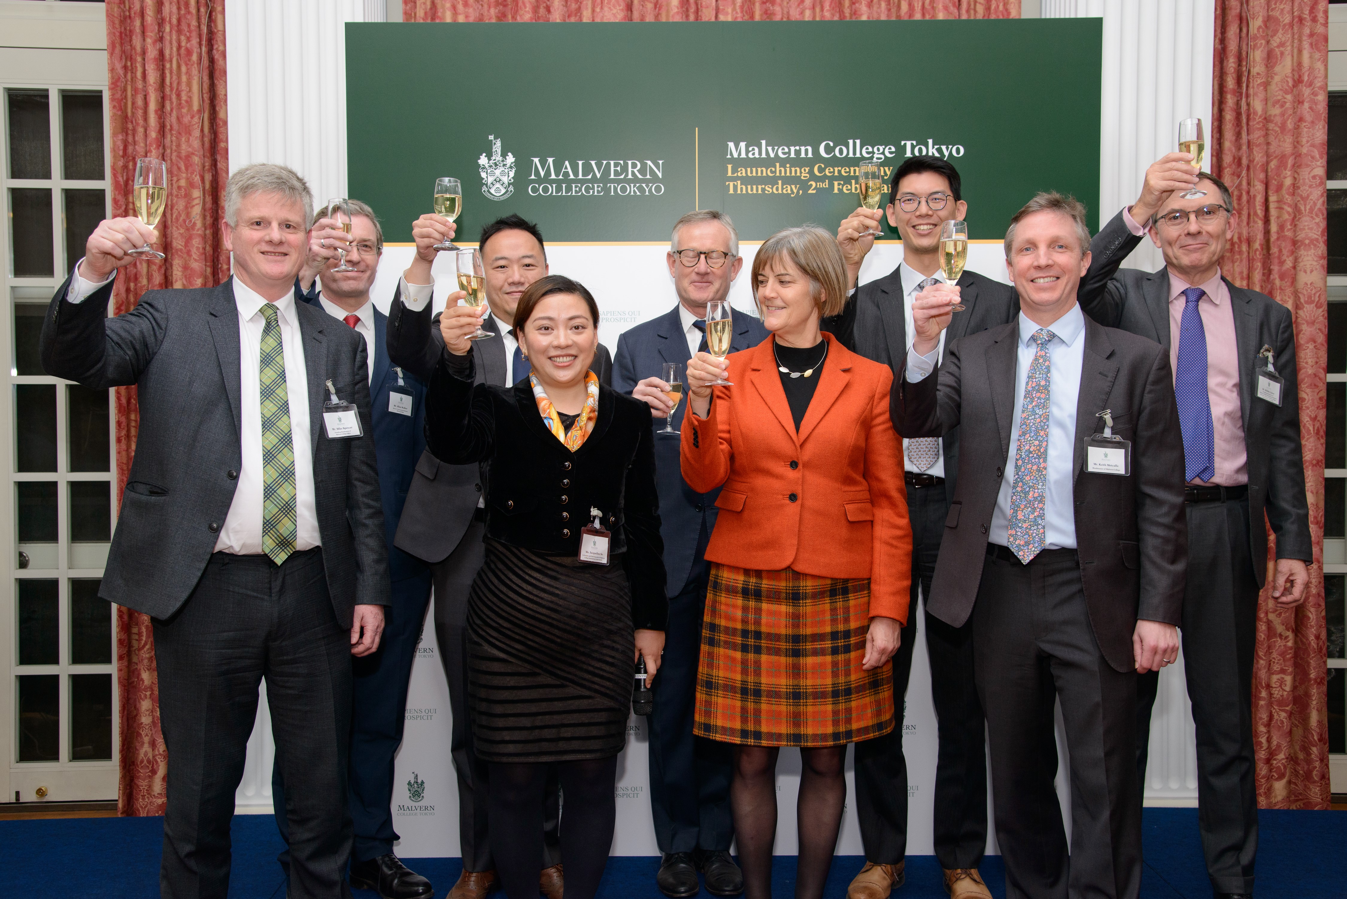
<instances>
[{"instance_id":1,"label":"red patterned curtain at right, behind the man in pink shirt","mask_svg":"<svg viewBox=\"0 0 1347 899\"><path fill-rule=\"evenodd\" d=\"M1234 283L1277 298L1294 319L1300 434L1315 542L1304 605L1278 611L1265 590L1258 609L1258 805L1327 809L1328 4L1216 0L1214 69L1214 173L1230 185L1238 214L1223 271Z\"/></svg>"}]
</instances>

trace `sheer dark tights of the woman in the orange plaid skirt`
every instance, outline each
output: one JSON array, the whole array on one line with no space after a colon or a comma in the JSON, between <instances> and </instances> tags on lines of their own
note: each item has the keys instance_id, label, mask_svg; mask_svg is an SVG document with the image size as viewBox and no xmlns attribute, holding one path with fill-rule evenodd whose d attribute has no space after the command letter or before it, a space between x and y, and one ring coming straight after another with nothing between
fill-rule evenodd
<instances>
[{"instance_id":1,"label":"sheer dark tights of the woman in the orange plaid skirt","mask_svg":"<svg viewBox=\"0 0 1347 899\"><path fill-rule=\"evenodd\" d=\"M744 899L772 899L779 752L777 747L734 747L730 809L734 813L740 868L744 871ZM846 747L801 748L800 759L804 770L800 775L800 797L795 803L796 826L800 832L795 899L820 899L832 865L832 853L836 850L838 829L842 826Z\"/></svg>"}]
</instances>

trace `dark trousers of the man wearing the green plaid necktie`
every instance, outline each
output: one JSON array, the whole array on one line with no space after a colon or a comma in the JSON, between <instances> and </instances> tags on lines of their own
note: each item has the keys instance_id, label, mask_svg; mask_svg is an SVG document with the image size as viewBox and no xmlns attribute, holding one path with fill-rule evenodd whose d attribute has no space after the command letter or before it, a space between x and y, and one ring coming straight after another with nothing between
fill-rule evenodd
<instances>
[{"instance_id":1,"label":"dark trousers of the man wearing the green plaid necktie","mask_svg":"<svg viewBox=\"0 0 1347 899\"><path fill-rule=\"evenodd\" d=\"M182 609L154 628L168 749L160 894L229 892L229 822L265 678L276 767L291 784L291 896L350 896L350 632L333 612L322 550L279 567L216 553Z\"/></svg>"}]
</instances>

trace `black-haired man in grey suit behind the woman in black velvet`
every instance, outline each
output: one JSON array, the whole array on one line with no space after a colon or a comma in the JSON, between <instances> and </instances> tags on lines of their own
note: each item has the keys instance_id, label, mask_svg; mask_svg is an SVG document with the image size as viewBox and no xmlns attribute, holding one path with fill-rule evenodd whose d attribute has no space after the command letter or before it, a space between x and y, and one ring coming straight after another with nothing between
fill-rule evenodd
<instances>
[{"instance_id":1,"label":"black-haired man in grey suit behind the woman in black velvet","mask_svg":"<svg viewBox=\"0 0 1347 899\"><path fill-rule=\"evenodd\" d=\"M445 352L439 315L431 318L435 244L453 239L455 226L447 218L427 213L412 224L416 256L397 282L388 310L388 356L395 365L426 381ZM528 361L515 340L515 307L524 290L547 274L547 249L537 225L505 216L482 228L478 243L486 274L486 302L490 314L482 330L492 337L473 341L473 360L481 383L511 385L528 377ZM462 292L451 292L457 303ZM594 373L612 383L613 364L602 344L594 356ZM466 619L467 590L482 566L486 509L482 505L482 472L477 465L449 465L430 450L422 453L407 491L403 518L393 545L424 559L435 585L435 639L449 681L453 713L451 753L458 776L459 848L463 873L449 899L481 899L494 887L496 863L486 829L486 764L473 752L467 709ZM548 899L562 898L559 782L547 788L544 814L544 857L540 888Z\"/></svg>"}]
</instances>

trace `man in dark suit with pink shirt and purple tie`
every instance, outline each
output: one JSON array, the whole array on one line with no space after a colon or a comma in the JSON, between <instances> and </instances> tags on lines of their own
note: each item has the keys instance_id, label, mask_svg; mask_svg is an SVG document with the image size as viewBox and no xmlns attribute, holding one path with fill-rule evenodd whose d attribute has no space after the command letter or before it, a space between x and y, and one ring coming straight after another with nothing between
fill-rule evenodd
<instances>
[{"instance_id":1,"label":"man in dark suit with pink shirt and purple tie","mask_svg":"<svg viewBox=\"0 0 1347 899\"><path fill-rule=\"evenodd\" d=\"M1098 321L1158 341L1173 360L1185 449L1183 651L1197 729L1197 826L1215 894L1249 896L1258 848L1251 689L1268 573L1263 516L1277 535L1278 608L1304 598L1313 546L1290 313L1222 276L1234 202L1226 185L1207 173L1199 181L1189 163L1188 154L1169 154L1150 166L1137 202L1094 240L1121 259L1149 233L1165 267L1118 271L1106 291L1082 302ZM1203 195L1184 197L1195 185ZM1152 673L1138 682L1142 783L1158 681Z\"/></svg>"}]
</instances>

